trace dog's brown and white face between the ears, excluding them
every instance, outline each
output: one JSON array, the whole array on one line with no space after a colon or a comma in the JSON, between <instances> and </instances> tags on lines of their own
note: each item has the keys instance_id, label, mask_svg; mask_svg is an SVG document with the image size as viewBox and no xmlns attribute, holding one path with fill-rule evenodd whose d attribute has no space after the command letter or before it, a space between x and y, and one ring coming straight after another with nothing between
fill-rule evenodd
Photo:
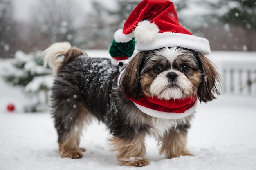
<instances>
[{"instance_id":1,"label":"dog's brown and white face between the ears, excluding them","mask_svg":"<svg viewBox=\"0 0 256 170\"><path fill-rule=\"evenodd\" d=\"M182 99L196 92L201 74L191 51L164 48L148 54L141 70L141 88L148 97Z\"/></svg>"}]
</instances>

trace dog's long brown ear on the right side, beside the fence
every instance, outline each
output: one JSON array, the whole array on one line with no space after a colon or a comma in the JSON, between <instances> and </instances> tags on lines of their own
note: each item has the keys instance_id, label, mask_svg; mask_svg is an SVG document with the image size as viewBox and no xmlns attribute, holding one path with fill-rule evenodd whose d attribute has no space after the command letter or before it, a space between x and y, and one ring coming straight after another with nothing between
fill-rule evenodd
<instances>
[{"instance_id":1,"label":"dog's long brown ear on the right side, beside the fence","mask_svg":"<svg viewBox=\"0 0 256 170\"><path fill-rule=\"evenodd\" d=\"M198 53L198 62L199 67L202 71L202 82L198 87L198 99L200 102L210 102L213 99L216 99L214 94L220 94L220 75L216 70L214 64L204 55Z\"/></svg>"}]
</instances>

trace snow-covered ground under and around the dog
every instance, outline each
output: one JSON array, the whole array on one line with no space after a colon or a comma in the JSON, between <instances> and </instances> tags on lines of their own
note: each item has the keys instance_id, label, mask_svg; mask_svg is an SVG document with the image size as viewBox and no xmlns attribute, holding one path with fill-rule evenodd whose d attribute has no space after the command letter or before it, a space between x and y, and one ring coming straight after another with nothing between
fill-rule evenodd
<instances>
[{"instance_id":1,"label":"snow-covered ground under and around the dog","mask_svg":"<svg viewBox=\"0 0 256 170\"><path fill-rule=\"evenodd\" d=\"M4 61L0 60L0 66ZM96 121L86 128L81 159L61 158L49 113L23 113L22 91L0 79L0 170L135 170L118 166L110 151L109 136ZM9 102L16 111L9 113ZM195 156L165 159L157 143L147 138L145 170L256 170L256 96L221 95L199 104L188 136L188 150Z\"/></svg>"}]
</instances>

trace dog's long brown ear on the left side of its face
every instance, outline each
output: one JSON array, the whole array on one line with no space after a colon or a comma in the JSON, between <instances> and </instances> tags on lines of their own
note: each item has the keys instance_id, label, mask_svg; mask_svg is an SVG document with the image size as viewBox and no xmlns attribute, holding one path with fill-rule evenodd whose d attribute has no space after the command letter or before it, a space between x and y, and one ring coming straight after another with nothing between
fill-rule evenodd
<instances>
[{"instance_id":1,"label":"dog's long brown ear on the left side of its face","mask_svg":"<svg viewBox=\"0 0 256 170\"><path fill-rule=\"evenodd\" d=\"M124 95L132 99L139 99L142 96L140 84L140 72L144 64L145 57L142 53L135 55L128 63L121 77L120 88Z\"/></svg>"}]
</instances>

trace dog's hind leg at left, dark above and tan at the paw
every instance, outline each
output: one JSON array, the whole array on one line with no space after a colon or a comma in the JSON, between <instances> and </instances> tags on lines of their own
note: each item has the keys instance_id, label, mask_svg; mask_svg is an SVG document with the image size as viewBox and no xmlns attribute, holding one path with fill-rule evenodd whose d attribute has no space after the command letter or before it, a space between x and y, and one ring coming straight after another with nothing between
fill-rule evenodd
<instances>
[{"instance_id":1,"label":"dog's hind leg at left, dark above and tan at the paw","mask_svg":"<svg viewBox=\"0 0 256 170\"><path fill-rule=\"evenodd\" d=\"M72 95L68 99L63 99L60 93L58 94L58 97L53 100L53 117L61 157L77 159L83 157L82 152L85 149L79 148L80 136L84 124L89 123L92 115L73 96L76 97Z\"/></svg>"}]
</instances>

